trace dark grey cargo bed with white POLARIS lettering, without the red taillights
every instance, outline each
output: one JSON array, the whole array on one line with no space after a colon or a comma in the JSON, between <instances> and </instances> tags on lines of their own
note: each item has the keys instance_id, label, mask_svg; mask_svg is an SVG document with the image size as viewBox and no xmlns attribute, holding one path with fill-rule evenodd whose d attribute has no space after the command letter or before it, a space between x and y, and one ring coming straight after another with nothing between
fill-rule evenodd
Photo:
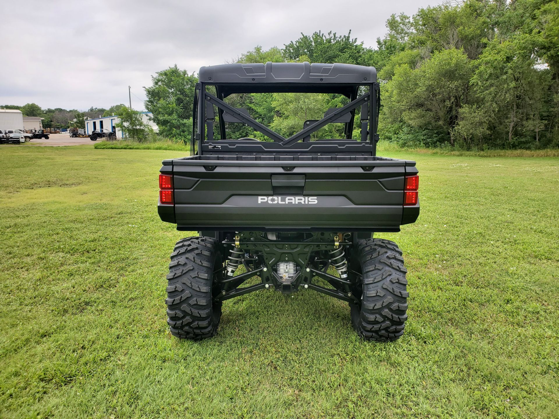
<instances>
[{"instance_id":1,"label":"dark grey cargo bed with white POLARIS lettering, without the red taillights","mask_svg":"<svg viewBox=\"0 0 559 419\"><path fill-rule=\"evenodd\" d=\"M415 161L379 156L197 155L163 161L178 230L399 231L419 215L404 206Z\"/></svg>"}]
</instances>

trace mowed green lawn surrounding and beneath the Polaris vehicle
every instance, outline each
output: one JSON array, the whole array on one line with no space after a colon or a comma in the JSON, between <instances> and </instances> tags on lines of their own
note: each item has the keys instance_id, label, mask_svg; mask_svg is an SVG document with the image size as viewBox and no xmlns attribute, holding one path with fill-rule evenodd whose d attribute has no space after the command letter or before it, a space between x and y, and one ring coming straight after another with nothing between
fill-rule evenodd
<instances>
[{"instance_id":1,"label":"mowed green lawn surrounding and beneath the Polaris vehicle","mask_svg":"<svg viewBox=\"0 0 559 419\"><path fill-rule=\"evenodd\" d=\"M409 320L356 336L347 303L260 291L219 334L170 336L185 232L157 215L180 151L0 147L0 417L559 417L559 159L390 153L420 170L396 241Z\"/></svg>"}]
</instances>

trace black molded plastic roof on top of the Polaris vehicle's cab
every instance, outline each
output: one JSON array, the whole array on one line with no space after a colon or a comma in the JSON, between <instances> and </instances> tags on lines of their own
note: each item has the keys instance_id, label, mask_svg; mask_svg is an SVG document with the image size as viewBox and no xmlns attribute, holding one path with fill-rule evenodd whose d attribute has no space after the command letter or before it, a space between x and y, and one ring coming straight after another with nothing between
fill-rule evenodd
<instances>
[{"instance_id":1,"label":"black molded plastic roof on top of the Polaris vehicle's cab","mask_svg":"<svg viewBox=\"0 0 559 419\"><path fill-rule=\"evenodd\" d=\"M369 84L376 82L377 70L355 64L271 63L221 64L202 67L201 82L229 83L288 83L288 84Z\"/></svg>"}]
</instances>

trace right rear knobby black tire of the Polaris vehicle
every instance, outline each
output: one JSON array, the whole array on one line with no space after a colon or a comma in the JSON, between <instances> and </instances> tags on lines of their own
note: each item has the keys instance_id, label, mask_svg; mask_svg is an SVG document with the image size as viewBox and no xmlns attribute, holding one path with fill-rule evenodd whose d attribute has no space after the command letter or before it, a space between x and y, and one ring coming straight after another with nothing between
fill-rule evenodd
<instances>
[{"instance_id":1,"label":"right rear knobby black tire of the Polaris vehicle","mask_svg":"<svg viewBox=\"0 0 559 419\"><path fill-rule=\"evenodd\" d=\"M404 334L408 316L406 268L395 242L382 239L358 243L352 265L361 273L350 303L352 324L366 340L393 341Z\"/></svg>"}]
</instances>

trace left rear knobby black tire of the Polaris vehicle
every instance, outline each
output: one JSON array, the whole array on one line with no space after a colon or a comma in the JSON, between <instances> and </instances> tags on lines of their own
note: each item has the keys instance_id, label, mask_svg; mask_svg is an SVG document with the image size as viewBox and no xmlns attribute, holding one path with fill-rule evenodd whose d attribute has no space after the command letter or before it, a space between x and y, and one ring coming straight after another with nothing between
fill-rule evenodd
<instances>
[{"instance_id":1,"label":"left rear knobby black tire of the Polaris vehicle","mask_svg":"<svg viewBox=\"0 0 559 419\"><path fill-rule=\"evenodd\" d=\"M216 334L221 302L214 301L219 293L214 279L222 279L222 266L216 239L188 237L177 242L171 254L165 300L173 336L201 340Z\"/></svg>"}]
</instances>

